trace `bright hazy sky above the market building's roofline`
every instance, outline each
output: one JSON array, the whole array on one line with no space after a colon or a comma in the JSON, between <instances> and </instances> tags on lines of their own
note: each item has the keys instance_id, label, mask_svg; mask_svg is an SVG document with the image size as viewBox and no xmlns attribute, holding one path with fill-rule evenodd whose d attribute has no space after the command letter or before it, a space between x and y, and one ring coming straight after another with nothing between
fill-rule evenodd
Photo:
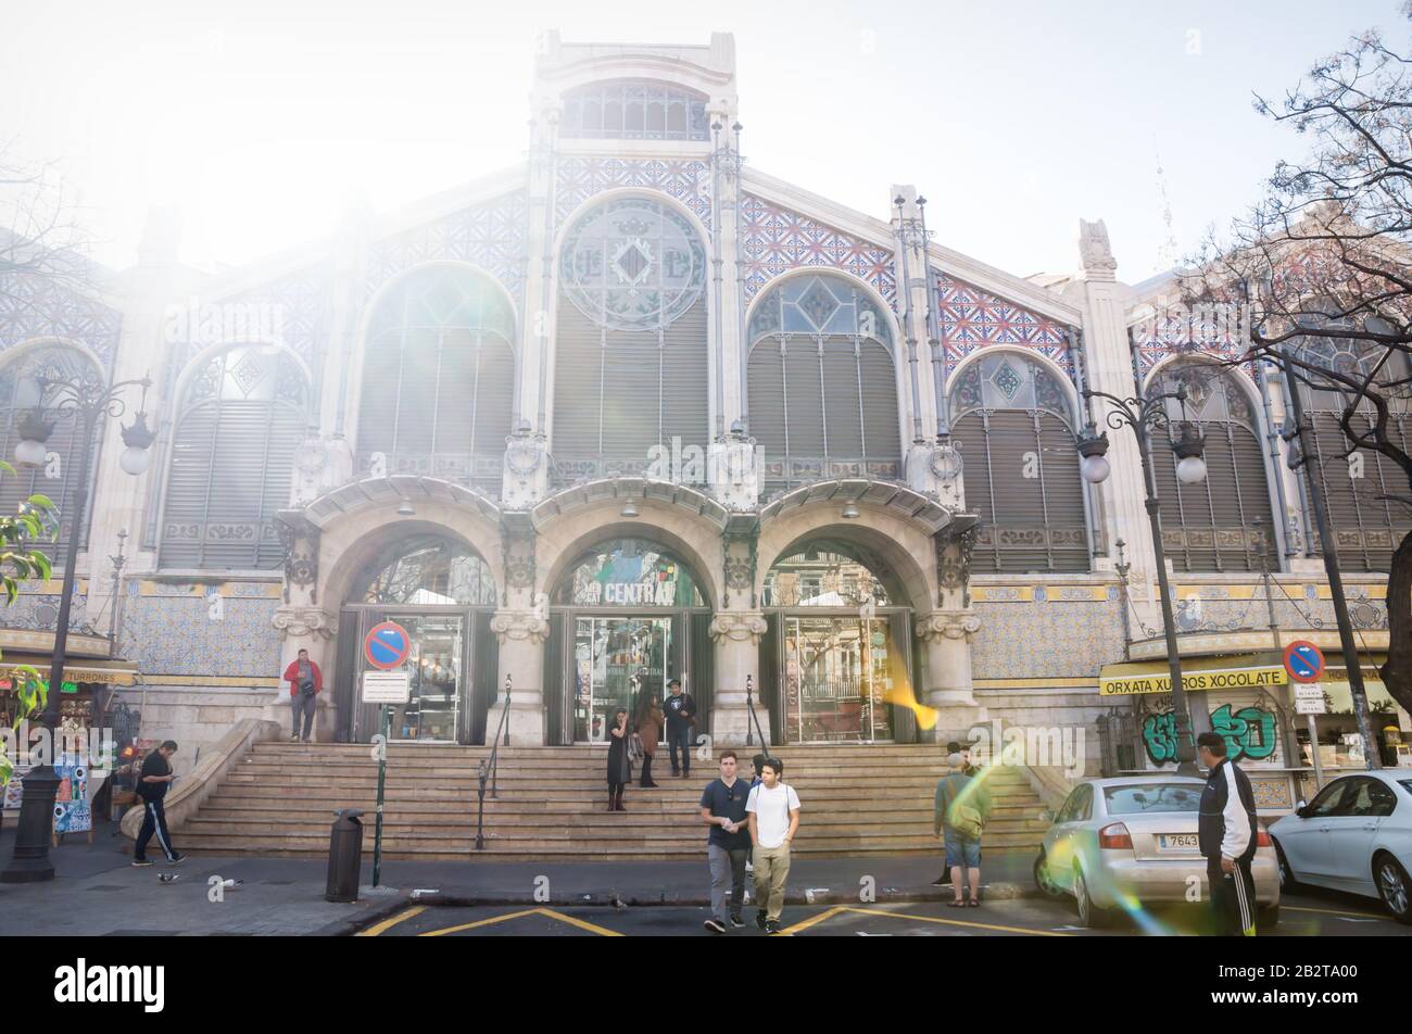
<instances>
[{"instance_id":1,"label":"bright hazy sky above the market building's roofline","mask_svg":"<svg viewBox=\"0 0 1412 1034\"><path fill-rule=\"evenodd\" d=\"M1137 283L1303 153L1252 93L1370 27L1406 47L1399 6L0 0L0 141L59 162L100 261L131 264L157 206L220 268L521 161L544 30L729 31L753 167L880 219L915 184L939 243L1017 275L1072 271L1101 218Z\"/></svg>"}]
</instances>

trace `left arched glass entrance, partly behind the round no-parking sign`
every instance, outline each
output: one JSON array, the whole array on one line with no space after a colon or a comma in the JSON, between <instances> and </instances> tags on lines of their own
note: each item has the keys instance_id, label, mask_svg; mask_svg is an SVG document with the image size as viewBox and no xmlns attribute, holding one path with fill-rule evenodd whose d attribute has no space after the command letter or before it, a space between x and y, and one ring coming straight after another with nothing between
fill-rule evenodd
<instances>
[{"instance_id":1,"label":"left arched glass entrance, partly behind the round no-parking sign","mask_svg":"<svg viewBox=\"0 0 1412 1034\"><path fill-rule=\"evenodd\" d=\"M484 743L497 678L494 612L494 576L457 537L421 531L388 542L353 575L339 619L337 737L366 743L378 732L378 705L360 694L363 640L395 622L411 638L411 694L393 708L388 739Z\"/></svg>"}]
</instances>

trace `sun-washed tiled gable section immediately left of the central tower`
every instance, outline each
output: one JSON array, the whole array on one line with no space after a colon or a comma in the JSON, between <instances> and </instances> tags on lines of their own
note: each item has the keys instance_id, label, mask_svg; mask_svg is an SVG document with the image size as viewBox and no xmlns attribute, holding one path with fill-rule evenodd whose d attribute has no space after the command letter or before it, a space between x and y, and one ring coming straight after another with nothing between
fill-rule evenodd
<instances>
[{"instance_id":1,"label":"sun-washed tiled gable section immediately left of the central tower","mask_svg":"<svg viewBox=\"0 0 1412 1034\"><path fill-rule=\"evenodd\" d=\"M370 247L367 292L405 268L436 258L460 258L490 273L515 299L522 297L527 249L525 191L452 212Z\"/></svg>"}]
</instances>

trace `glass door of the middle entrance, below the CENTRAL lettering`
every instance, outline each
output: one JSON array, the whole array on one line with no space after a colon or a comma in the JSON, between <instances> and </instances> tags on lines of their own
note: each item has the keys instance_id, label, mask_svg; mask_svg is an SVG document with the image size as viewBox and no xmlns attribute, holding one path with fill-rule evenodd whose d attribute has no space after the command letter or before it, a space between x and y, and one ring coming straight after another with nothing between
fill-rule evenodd
<instances>
[{"instance_id":1,"label":"glass door of the middle entrance, below the CENTRAL lettering","mask_svg":"<svg viewBox=\"0 0 1412 1034\"><path fill-rule=\"evenodd\" d=\"M631 720L644 696L661 701L671 655L669 617L575 619L575 743L606 743L614 711L627 709Z\"/></svg>"}]
</instances>

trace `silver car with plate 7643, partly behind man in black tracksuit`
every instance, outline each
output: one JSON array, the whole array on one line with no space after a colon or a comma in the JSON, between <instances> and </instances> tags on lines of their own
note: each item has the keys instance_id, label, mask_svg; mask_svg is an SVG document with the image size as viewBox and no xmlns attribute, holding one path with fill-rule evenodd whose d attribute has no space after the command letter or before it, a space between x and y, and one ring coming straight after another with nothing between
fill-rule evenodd
<instances>
[{"instance_id":1,"label":"silver car with plate 7643, partly behind man in black tracksuit","mask_svg":"<svg viewBox=\"0 0 1412 1034\"><path fill-rule=\"evenodd\" d=\"M1209 901L1206 859L1196 839L1204 785L1161 774L1080 783L1058 815L1042 815L1053 825L1035 859L1035 883L1055 898L1072 894L1086 927L1106 925L1120 913L1141 917L1151 904ZM1257 921L1269 928L1279 921L1279 864L1264 829L1251 874Z\"/></svg>"}]
</instances>

